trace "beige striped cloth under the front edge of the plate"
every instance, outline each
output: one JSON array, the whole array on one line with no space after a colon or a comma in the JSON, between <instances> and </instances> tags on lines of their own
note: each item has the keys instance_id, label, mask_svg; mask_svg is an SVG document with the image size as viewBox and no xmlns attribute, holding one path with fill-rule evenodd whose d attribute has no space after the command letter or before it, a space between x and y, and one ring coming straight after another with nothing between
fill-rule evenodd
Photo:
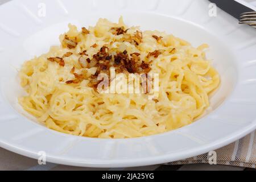
<instances>
[{"instance_id":1,"label":"beige striped cloth under the front edge of the plate","mask_svg":"<svg viewBox=\"0 0 256 182\"><path fill-rule=\"evenodd\" d=\"M208 154L196 156L172 162L146 167L134 168L97 168L97 170L256 170L256 133L255 131L246 137L237 140L228 146L216 150L217 164L208 164ZM193 165L192 165L193 164ZM236 167L232 167L236 166ZM0 170L29 170L29 171L48 171L48 170L95 170L96 168L72 167L58 164L47 163L39 165L35 159L14 154L0 148Z\"/></svg>"}]
</instances>

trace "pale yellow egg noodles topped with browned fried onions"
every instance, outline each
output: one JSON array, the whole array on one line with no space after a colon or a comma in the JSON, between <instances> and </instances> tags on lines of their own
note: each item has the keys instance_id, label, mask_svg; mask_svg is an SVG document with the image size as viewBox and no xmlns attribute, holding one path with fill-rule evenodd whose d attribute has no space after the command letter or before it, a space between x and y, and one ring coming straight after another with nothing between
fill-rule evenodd
<instances>
[{"instance_id":1,"label":"pale yellow egg noodles topped with browned fried onions","mask_svg":"<svg viewBox=\"0 0 256 182\"><path fill-rule=\"evenodd\" d=\"M165 32L141 32L139 27L127 27L122 18L119 23L100 19L95 27L81 31L69 24L60 42L61 46L22 65L19 77L27 95L18 100L38 121L62 133L135 138L178 129L204 113L209 93L220 84L205 56L207 44L194 48ZM109 67L122 59L138 65L123 64L119 72L158 74L157 97L97 92L92 83L96 65L106 69L102 55L108 63L114 61Z\"/></svg>"}]
</instances>

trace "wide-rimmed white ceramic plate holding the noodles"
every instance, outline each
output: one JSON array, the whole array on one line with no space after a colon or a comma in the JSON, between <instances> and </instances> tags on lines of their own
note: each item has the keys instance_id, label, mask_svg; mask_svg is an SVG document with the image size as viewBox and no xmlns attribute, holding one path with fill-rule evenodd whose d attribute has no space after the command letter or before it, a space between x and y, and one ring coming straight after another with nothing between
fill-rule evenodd
<instances>
[{"instance_id":1,"label":"wide-rimmed white ceramic plate holding the noodles","mask_svg":"<svg viewBox=\"0 0 256 182\"><path fill-rule=\"evenodd\" d=\"M42 15L46 5L46 16ZM39 11L39 12L38 12ZM0 6L0 146L47 162L84 167L131 167L171 162L225 146L255 130L256 31L217 10L206 0L23 0ZM39 14L38 14L39 13ZM68 23L94 25L98 18L162 30L194 46L208 43L208 57L221 75L211 109L192 125L134 139L93 139L61 134L36 123L18 105L24 94L17 69L24 60L59 44Z\"/></svg>"}]
</instances>

